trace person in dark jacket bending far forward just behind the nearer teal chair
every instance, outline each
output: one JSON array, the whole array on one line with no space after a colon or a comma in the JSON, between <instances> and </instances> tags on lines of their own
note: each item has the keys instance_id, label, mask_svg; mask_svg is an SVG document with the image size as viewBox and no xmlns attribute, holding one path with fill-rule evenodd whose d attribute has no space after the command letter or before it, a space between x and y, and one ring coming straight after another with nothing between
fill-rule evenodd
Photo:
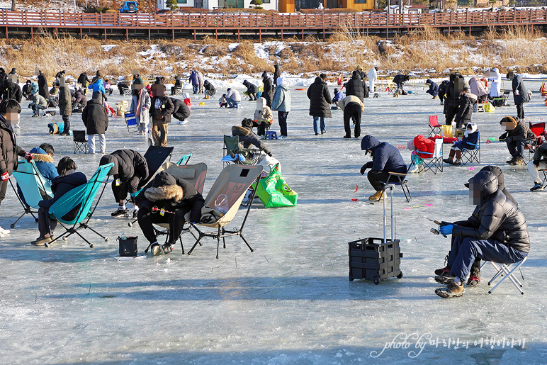
<instances>
[{"instance_id":1,"label":"person in dark jacket bending far forward just behind the nearer teal chair","mask_svg":"<svg viewBox=\"0 0 547 365\"><path fill-rule=\"evenodd\" d=\"M118 210L113 212L112 216L120 217L129 213L129 210L125 208L125 198L127 198L129 193L135 207L135 210L133 210L133 218L135 218L139 208L132 194L139 191L144 185L142 182L148 178L148 163L145 157L142 157L139 152L134 150L114 151L110 155L101 157L99 164L102 166L111 162L114 162L114 166L108 174L113 175L112 192L114 193L115 200L118 201Z\"/></svg>"}]
</instances>

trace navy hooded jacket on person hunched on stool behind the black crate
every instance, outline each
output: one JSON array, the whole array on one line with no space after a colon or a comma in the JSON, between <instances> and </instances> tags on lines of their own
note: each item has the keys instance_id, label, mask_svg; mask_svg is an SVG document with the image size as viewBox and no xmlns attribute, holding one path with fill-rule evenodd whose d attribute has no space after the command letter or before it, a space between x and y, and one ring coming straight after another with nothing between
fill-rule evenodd
<instances>
[{"instance_id":1,"label":"navy hooded jacket on person hunched on stool behind the black crate","mask_svg":"<svg viewBox=\"0 0 547 365\"><path fill-rule=\"evenodd\" d=\"M401 153L397 147L388 142L380 142L371 135L366 135L361 140L361 150L372 150L372 163L366 166L372 171L399 172L405 174L407 166L402 159Z\"/></svg>"}]
</instances>

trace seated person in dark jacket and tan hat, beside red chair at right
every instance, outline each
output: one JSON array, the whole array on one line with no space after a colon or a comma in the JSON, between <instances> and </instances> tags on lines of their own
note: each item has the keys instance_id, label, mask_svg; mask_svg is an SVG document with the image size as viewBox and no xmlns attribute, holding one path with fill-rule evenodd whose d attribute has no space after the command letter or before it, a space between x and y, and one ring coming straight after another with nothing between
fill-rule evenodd
<instances>
[{"instance_id":1,"label":"seated person in dark jacket and tan hat, beside red chair at right","mask_svg":"<svg viewBox=\"0 0 547 365\"><path fill-rule=\"evenodd\" d=\"M534 143L536 135L529 130L524 120L506 116L500 120L500 125L505 133L500 135L500 141L507 143L507 150L511 154L511 159L507 164L522 164L524 161L524 147L526 143Z\"/></svg>"}]
</instances>

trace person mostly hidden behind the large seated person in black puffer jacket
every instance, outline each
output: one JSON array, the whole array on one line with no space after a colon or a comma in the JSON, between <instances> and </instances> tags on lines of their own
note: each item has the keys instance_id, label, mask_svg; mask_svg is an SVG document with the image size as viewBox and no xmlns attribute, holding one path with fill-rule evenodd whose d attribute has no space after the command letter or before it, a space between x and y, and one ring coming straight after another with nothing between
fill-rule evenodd
<instances>
[{"instance_id":1,"label":"person mostly hidden behind the large seated person in black puffer jacket","mask_svg":"<svg viewBox=\"0 0 547 365\"><path fill-rule=\"evenodd\" d=\"M505 197L509 199L514 204L514 206L516 207L519 206L519 203L517 203L517 201L514 200L511 193L509 193L509 191L505 189L504 176L503 176L502 169L500 169L500 167L488 165L480 169L480 171L481 172L489 171L489 172L492 172L492 174L495 174L495 176L497 177L497 188L500 189L502 193L504 193ZM480 209L480 206L475 206L475 210L473 210L473 213L471 213L471 217L476 217L478 215L479 209ZM475 225L475 223L471 222L470 220L461 220L459 222L454 222L453 224L460 225L462 227ZM454 245L454 238L455 237L452 235L451 247ZM446 255L446 258L444 259L445 265L448 262L449 257L450 257L450 252L449 254ZM435 281L441 284L448 283L448 281L451 279L450 269L451 269L451 266L448 266L448 265L444 266L442 269L436 269ZM480 283L480 259L475 259L473 266L471 266L471 271L470 271L469 279L467 281L467 286L478 286L479 283Z\"/></svg>"}]
</instances>

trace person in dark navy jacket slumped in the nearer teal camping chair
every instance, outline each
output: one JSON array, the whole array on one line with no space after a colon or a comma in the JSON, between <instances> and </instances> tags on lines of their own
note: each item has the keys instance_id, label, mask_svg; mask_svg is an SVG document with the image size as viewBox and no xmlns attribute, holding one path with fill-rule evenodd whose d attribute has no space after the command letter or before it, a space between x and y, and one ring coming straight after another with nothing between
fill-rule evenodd
<instances>
[{"instance_id":1,"label":"person in dark navy jacket slumped in the nearer teal camping chair","mask_svg":"<svg viewBox=\"0 0 547 365\"><path fill-rule=\"evenodd\" d=\"M50 218L50 207L65 193L87 183L86 176L81 172L77 172L76 169L76 162L70 157L63 157L59 161L59 164L57 164L57 173L59 176L51 181L53 198L38 203L38 206L40 206L38 208L38 230L40 230L40 236L33 242L30 242L30 244L43 246L46 242L53 240L53 230L57 227L57 220ZM74 219L77 213L78 210L71 211L64 215L63 219Z\"/></svg>"}]
</instances>

